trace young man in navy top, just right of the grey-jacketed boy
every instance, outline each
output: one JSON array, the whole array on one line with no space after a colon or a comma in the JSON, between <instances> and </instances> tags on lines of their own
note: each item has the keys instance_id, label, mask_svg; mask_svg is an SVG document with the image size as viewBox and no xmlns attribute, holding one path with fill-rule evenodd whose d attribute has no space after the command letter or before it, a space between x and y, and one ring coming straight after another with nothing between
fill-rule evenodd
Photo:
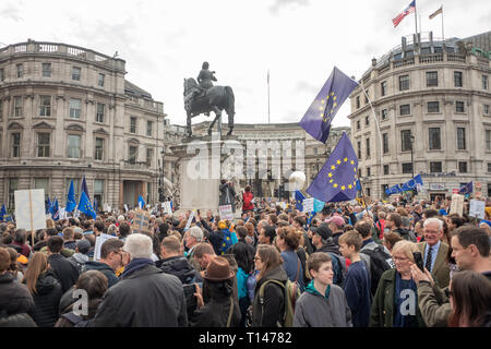
<instances>
[{"instance_id":1,"label":"young man in navy top, just right of the grey-jacketed boy","mask_svg":"<svg viewBox=\"0 0 491 349\"><path fill-rule=\"evenodd\" d=\"M370 275L360 257L362 242L360 233L356 230L347 231L339 237L339 251L345 258L351 261L343 290L351 310L354 327L368 327L370 318Z\"/></svg>"}]
</instances>

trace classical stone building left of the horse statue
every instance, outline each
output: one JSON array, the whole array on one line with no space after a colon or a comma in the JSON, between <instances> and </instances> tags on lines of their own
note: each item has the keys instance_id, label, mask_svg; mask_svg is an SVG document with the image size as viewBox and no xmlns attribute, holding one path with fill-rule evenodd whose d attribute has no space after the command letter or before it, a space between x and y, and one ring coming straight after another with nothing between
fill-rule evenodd
<instances>
[{"instance_id":1,"label":"classical stone building left of the horse statue","mask_svg":"<svg viewBox=\"0 0 491 349\"><path fill-rule=\"evenodd\" d=\"M83 176L99 206L158 201L163 103L124 79L125 61L67 44L0 49L0 201L44 189L64 206Z\"/></svg>"}]
</instances>

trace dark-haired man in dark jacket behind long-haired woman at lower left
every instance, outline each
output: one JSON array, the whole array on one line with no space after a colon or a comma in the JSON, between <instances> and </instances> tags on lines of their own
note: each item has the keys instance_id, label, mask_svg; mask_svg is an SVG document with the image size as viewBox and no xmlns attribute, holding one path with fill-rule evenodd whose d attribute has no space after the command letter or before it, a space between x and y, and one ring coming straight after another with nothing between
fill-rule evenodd
<instances>
[{"instance_id":1,"label":"dark-haired man in dark jacket behind long-haired woman at lower left","mask_svg":"<svg viewBox=\"0 0 491 349\"><path fill-rule=\"evenodd\" d=\"M79 268L75 263L60 254L62 249L63 239L61 237L50 237L48 239L48 263L53 270L55 277L61 284L62 292L65 292L79 279Z\"/></svg>"}]
</instances>

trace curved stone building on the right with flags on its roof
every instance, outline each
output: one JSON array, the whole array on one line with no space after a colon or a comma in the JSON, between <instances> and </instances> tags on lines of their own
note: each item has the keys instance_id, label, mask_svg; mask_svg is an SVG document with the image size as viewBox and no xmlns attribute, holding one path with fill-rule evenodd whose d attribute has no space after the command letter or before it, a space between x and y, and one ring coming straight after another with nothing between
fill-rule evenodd
<instances>
[{"instance_id":1,"label":"curved stone building on the right with flags on its roof","mask_svg":"<svg viewBox=\"0 0 491 349\"><path fill-rule=\"evenodd\" d=\"M429 33L372 60L349 116L368 195L420 173L428 197L469 181L491 196L490 44L491 32L444 43Z\"/></svg>"}]
</instances>

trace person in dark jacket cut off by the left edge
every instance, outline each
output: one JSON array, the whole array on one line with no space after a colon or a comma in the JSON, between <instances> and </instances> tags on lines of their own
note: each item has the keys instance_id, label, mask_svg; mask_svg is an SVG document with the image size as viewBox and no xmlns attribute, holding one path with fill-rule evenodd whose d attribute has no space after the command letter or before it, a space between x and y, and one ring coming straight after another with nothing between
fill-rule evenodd
<instances>
[{"instance_id":1,"label":"person in dark jacket cut off by the left edge","mask_svg":"<svg viewBox=\"0 0 491 349\"><path fill-rule=\"evenodd\" d=\"M9 273L10 253L4 248L0 248L0 317L8 317L5 326L15 323L15 318L10 316L24 314L31 317L34 311L34 300L25 285L19 284L16 278Z\"/></svg>"}]
</instances>

